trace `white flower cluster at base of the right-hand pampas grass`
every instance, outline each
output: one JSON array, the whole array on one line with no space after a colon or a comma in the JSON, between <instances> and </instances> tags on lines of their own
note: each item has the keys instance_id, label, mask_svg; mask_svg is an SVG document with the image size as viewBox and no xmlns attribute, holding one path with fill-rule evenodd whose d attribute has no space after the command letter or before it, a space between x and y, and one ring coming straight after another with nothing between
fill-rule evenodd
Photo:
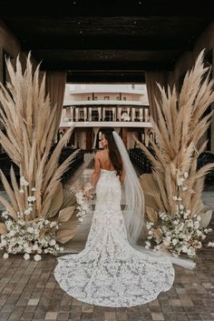
<instances>
[{"instance_id":1,"label":"white flower cluster at base of the right-hand pampas grass","mask_svg":"<svg viewBox=\"0 0 214 321\"><path fill-rule=\"evenodd\" d=\"M172 197L176 202L174 216L171 217L166 211L159 211L155 222L147 222L146 248L151 247L151 240L153 240L156 244L153 246L155 251L170 251L173 256L185 253L194 257L197 249L202 247L201 241L212 231L212 228L200 227L201 216L197 214L190 216L190 209L182 204L180 191L188 191L189 187L183 185L188 176L189 174L185 172L177 179L178 195ZM209 242L208 246L214 246L214 243Z\"/></svg>"}]
</instances>

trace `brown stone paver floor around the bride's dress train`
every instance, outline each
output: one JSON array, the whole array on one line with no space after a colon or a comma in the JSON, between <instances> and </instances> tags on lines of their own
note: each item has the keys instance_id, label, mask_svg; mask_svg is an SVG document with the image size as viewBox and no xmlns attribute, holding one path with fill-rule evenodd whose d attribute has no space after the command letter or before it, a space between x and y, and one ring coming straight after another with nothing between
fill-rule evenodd
<instances>
[{"instance_id":1,"label":"brown stone paver floor around the bride's dress train","mask_svg":"<svg viewBox=\"0 0 214 321\"><path fill-rule=\"evenodd\" d=\"M87 181L92 172L91 158L87 158L86 164L78 169L73 179L66 182L67 185L75 184L78 177ZM209 194L204 194L204 201L214 208L213 193L205 193ZM84 237L91 219L89 217L84 228L82 226ZM210 226L214 227L213 220ZM79 239L82 246L84 237ZM149 304L116 308L84 304L63 292L53 276L56 266L53 256L44 256L39 262L25 261L21 255L10 256L7 260L1 256L0 321L213 321L214 248L203 247L199 250L196 263L193 270L174 265L173 286Z\"/></svg>"}]
</instances>

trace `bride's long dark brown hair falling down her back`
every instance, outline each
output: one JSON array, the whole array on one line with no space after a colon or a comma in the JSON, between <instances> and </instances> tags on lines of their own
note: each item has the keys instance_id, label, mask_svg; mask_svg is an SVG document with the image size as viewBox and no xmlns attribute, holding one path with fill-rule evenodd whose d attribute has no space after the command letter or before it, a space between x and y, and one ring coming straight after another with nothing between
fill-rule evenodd
<instances>
[{"instance_id":1,"label":"bride's long dark brown hair falling down her back","mask_svg":"<svg viewBox=\"0 0 214 321\"><path fill-rule=\"evenodd\" d=\"M102 134L105 136L105 139L108 141L108 147L109 147L109 158L112 162L112 166L117 171L117 175L122 175L122 157L119 152L119 149L114 141L113 138L113 129L110 128L103 128Z\"/></svg>"}]
</instances>

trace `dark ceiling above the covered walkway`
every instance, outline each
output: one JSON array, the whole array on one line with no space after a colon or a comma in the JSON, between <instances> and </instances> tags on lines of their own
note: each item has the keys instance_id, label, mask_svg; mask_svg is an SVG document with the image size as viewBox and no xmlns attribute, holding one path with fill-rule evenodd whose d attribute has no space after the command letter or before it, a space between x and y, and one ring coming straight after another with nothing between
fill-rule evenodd
<instances>
[{"instance_id":1,"label":"dark ceiling above the covered walkway","mask_svg":"<svg viewBox=\"0 0 214 321\"><path fill-rule=\"evenodd\" d=\"M47 5L47 7L44 7ZM1 1L0 19L44 70L73 82L141 82L171 70L213 20L212 1ZM29 5L32 5L31 7Z\"/></svg>"}]
</instances>

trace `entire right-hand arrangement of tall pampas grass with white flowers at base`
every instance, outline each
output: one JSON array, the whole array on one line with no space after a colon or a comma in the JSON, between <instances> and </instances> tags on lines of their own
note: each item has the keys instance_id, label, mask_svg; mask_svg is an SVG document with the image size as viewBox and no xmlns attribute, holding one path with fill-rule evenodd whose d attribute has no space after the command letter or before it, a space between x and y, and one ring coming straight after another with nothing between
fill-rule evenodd
<instances>
[{"instance_id":1,"label":"entire right-hand arrangement of tall pampas grass with white flowers at base","mask_svg":"<svg viewBox=\"0 0 214 321\"><path fill-rule=\"evenodd\" d=\"M133 135L151 161L151 173L140 176L148 220L146 246L175 256L195 256L211 231L207 226L212 210L203 204L202 192L204 178L214 164L198 168L198 157L208 143L203 135L214 112L208 112L214 101L214 81L210 68L203 63L204 54L205 50L199 53L180 90L177 84L158 84L158 119L150 119L156 138L148 138L151 148ZM208 246L214 243L209 242Z\"/></svg>"}]
</instances>

